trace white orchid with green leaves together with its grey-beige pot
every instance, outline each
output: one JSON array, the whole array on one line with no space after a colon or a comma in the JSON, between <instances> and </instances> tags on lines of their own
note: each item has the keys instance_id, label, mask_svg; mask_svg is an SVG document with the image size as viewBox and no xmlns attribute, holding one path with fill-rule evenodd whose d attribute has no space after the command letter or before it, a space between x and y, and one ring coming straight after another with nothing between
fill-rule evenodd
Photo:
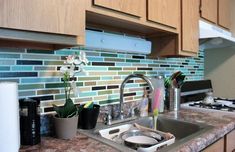
<instances>
[{"instance_id":1,"label":"white orchid with green leaves together with its grey-beige pot","mask_svg":"<svg viewBox=\"0 0 235 152\"><path fill-rule=\"evenodd\" d=\"M73 103L71 91L73 91L75 96L78 95L78 88L74 81L75 74L83 72L83 65L87 65L87 63L86 54L81 51L80 55L69 55L65 64L60 68L63 73L65 103L63 106L53 104L56 111L54 116L55 133L58 138L71 139L76 136L78 114L82 107L78 107Z\"/></svg>"}]
</instances>

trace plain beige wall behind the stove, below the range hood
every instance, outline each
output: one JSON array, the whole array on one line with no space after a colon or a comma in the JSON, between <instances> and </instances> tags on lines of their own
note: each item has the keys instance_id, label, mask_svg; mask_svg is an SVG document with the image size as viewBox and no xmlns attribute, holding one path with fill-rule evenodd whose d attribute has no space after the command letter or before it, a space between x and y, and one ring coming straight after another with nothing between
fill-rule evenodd
<instances>
[{"instance_id":1,"label":"plain beige wall behind the stove, below the range hood","mask_svg":"<svg viewBox=\"0 0 235 152\"><path fill-rule=\"evenodd\" d=\"M235 98L235 47L205 50L205 78L212 80L214 96Z\"/></svg>"}]
</instances>

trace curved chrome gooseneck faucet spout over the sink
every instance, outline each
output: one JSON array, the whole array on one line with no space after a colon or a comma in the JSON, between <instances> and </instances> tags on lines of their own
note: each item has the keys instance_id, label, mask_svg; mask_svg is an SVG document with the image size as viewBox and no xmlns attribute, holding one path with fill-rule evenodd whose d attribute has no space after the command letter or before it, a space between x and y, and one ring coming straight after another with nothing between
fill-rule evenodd
<instances>
[{"instance_id":1,"label":"curved chrome gooseneck faucet spout over the sink","mask_svg":"<svg viewBox=\"0 0 235 152\"><path fill-rule=\"evenodd\" d=\"M124 96L124 87L126 83L131 79L131 78L141 78L147 82L147 84L150 87L150 91L152 92L154 90L153 84L150 81L150 79L147 76L144 76L142 74L130 74L128 75L122 82L121 87L120 87L120 104L119 104L119 119L124 119L123 115L123 96Z\"/></svg>"}]
</instances>

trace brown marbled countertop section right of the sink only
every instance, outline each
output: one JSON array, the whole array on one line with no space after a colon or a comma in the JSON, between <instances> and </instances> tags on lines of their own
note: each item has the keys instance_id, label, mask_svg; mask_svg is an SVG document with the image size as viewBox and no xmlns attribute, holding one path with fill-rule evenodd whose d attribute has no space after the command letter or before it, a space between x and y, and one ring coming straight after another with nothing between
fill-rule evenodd
<instances>
[{"instance_id":1,"label":"brown marbled countertop section right of the sink only","mask_svg":"<svg viewBox=\"0 0 235 152\"><path fill-rule=\"evenodd\" d=\"M187 122L205 123L213 126L213 129L192 140L189 140L188 142L185 142L177 149L178 152L201 151L235 129L234 112L223 112L218 110L183 106L180 112L169 112L164 114L164 116Z\"/></svg>"}]
</instances>

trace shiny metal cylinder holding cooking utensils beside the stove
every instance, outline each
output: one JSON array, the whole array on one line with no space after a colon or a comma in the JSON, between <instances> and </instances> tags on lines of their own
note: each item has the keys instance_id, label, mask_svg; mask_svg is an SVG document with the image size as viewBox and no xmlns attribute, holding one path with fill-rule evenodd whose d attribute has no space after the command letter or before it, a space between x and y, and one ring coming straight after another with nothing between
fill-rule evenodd
<instances>
[{"instance_id":1,"label":"shiny metal cylinder holding cooking utensils beside the stove","mask_svg":"<svg viewBox=\"0 0 235 152\"><path fill-rule=\"evenodd\" d=\"M169 89L169 110L178 111L180 109L180 88Z\"/></svg>"}]
</instances>

